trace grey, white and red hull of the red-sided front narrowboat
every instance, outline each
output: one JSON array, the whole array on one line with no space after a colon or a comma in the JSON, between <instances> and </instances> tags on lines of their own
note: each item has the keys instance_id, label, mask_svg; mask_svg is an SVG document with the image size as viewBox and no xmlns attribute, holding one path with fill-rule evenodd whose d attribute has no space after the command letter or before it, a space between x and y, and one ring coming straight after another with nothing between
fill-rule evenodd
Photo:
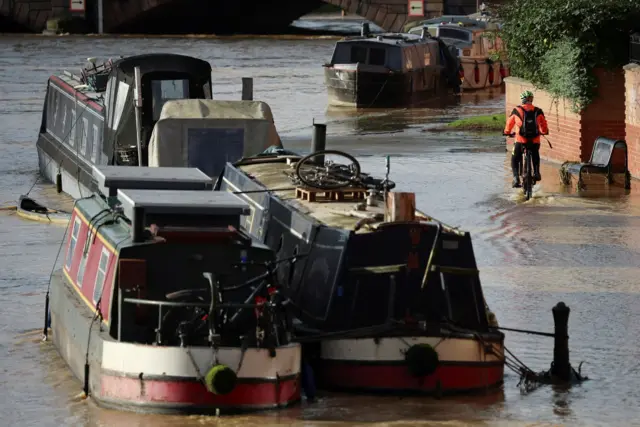
<instances>
[{"instance_id":1,"label":"grey, white and red hull of the red-sided front narrowboat","mask_svg":"<svg viewBox=\"0 0 640 427\"><path fill-rule=\"evenodd\" d=\"M229 394L216 395L199 379L212 366L211 348L191 347L190 356L186 348L113 340L106 322L92 322L88 303L64 274L53 276L50 301L53 343L81 383L88 372L89 394L99 406L215 414L274 409L300 400L299 344L276 348L275 357L266 349L249 348L243 355L239 348L219 348L219 363L237 371L238 380Z\"/></svg>"}]
</instances>

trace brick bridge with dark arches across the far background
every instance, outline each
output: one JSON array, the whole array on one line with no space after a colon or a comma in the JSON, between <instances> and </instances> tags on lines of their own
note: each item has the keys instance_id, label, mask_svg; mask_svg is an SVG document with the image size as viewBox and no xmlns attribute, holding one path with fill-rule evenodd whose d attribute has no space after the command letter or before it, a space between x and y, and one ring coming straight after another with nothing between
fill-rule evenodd
<instances>
[{"instance_id":1,"label":"brick bridge with dark arches across the far background","mask_svg":"<svg viewBox=\"0 0 640 427\"><path fill-rule=\"evenodd\" d=\"M52 18L71 19L77 32L283 33L292 21L325 3L388 31L424 19L407 16L408 0L0 0L0 33L41 32ZM476 11L476 0L423 3L426 18Z\"/></svg>"}]
</instances>

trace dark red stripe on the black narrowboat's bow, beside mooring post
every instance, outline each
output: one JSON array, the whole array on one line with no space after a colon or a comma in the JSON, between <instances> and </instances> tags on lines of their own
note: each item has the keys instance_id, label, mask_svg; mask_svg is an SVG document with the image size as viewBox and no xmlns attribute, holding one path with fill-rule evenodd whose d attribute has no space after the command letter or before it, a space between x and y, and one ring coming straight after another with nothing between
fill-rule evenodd
<instances>
[{"instance_id":1,"label":"dark red stripe on the black narrowboat's bow, beside mooring post","mask_svg":"<svg viewBox=\"0 0 640 427\"><path fill-rule=\"evenodd\" d=\"M404 365L335 361L323 361L318 375L319 381L331 387L424 393L436 391L438 381L442 392L451 393L496 387L503 378L504 366L496 364L440 365L434 374L416 378Z\"/></svg>"}]
</instances>

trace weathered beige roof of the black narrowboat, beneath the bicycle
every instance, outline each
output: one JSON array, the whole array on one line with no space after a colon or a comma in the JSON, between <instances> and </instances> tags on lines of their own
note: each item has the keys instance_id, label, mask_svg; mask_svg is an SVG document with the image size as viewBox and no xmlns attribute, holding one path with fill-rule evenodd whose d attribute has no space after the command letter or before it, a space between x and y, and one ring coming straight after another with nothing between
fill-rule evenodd
<instances>
[{"instance_id":1,"label":"weathered beige roof of the black narrowboat, beneath the bicycle","mask_svg":"<svg viewBox=\"0 0 640 427\"><path fill-rule=\"evenodd\" d=\"M260 159L259 163L256 161L255 163L243 164L239 166L239 169L260 182L265 188L295 188L291 179L285 174L285 172L295 173L295 162L287 164L282 157L266 161ZM286 200L299 212L330 227L354 230L356 225L362 221L368 223L368 226L362 226L357 232L366 233L370 228L375 228L384 222L384 202L382 200L377 201L377 206L366 206L366 198L354 200L346 197L345 200L309 202L297 198L294 189L277 191L274 194L281 200ZM356 210L357 205L364 205L365 210ZM419 211L416 211L416 214L424 216Z\"/></svg>"}]
</instances>

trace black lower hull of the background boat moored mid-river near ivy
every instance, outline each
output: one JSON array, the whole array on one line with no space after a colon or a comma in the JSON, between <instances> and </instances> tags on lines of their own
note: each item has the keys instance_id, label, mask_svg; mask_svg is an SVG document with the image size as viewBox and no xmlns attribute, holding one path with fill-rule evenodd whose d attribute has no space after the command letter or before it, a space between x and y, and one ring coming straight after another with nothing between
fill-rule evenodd
<instances>
[{"instance_id":1,"label":"black lower hull of the background boat moored mid-river near ivy","mask_svg":"<svg viewBox=\"0 0 640 427\"><path fill-rule=\"evenodd\" d=\"M391 73L325 67L329 104L374 108L419 104L447 94L440 68Z\"/></svg>"}]
</instances>

